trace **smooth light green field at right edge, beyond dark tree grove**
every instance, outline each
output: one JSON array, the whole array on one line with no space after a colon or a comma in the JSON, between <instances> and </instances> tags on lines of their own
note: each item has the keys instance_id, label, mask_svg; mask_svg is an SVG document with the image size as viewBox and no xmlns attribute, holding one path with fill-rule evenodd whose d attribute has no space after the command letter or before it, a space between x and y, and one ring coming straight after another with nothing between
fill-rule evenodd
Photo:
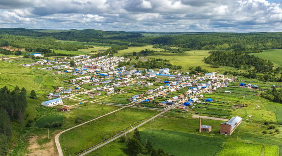
<instances>
[{"instance_id":1,"label":"smooth light green field at right edge, beyond dark tree grove","mask_svg":"<svg viewBox=\"0 0 282 156\"><path fill-rule=\"evenodd\" d=\"M253 53L252 55L270 60L274 66L282 66L282 49L264 50L260 53Z\"/></svg>"}]
</instances>

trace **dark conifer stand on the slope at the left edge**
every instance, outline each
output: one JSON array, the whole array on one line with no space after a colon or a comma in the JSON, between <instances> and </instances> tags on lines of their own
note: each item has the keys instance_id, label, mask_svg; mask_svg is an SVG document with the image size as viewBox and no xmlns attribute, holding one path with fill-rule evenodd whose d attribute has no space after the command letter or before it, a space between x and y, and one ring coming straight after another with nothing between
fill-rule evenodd
<instances>
[{"instance_id":1,"label":"dark conifer stand on the slope at the left edge","mask_svg":"<svg viewBox=\"0 0 282 156\"><path fill-rule=\"evenodd\" d=\"M25 88L0 89L0 154L6 155L12 133L10 120L22 121L27 105Z\"/></svg>"}]
</instances>

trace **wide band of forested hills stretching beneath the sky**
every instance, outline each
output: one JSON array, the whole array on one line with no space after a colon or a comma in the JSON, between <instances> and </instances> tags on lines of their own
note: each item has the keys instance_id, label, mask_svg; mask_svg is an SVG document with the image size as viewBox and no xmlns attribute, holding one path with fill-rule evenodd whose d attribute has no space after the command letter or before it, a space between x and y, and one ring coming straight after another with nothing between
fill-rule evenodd
<instances>
[{"instance_id":1,"label":"wide band of forested hills stretching beneath the sky","mask_svg":"<svg viewBox=\"0 0 282 156\"><path fill-rule=\"evenodd\" d=\"M169 33L168 33L169 34ZM177 34L177 33L176 33ZM180 33L181 34L181 33ZM82 45L62 44L54 40L99 42L128 46L155 45L172 52L189 50L281 49L282 33L191 33L169 36L144 37L136 32L110 32L94 29L48 31L24 28L0 29L0 46L8 44L20 48L59 48L62 50L85 48ZM44 44L43 44L44 43ZM179 47L177 49L171 46ZM251 50L246 50L251 49Z\"/></svg>"}]
</instances>

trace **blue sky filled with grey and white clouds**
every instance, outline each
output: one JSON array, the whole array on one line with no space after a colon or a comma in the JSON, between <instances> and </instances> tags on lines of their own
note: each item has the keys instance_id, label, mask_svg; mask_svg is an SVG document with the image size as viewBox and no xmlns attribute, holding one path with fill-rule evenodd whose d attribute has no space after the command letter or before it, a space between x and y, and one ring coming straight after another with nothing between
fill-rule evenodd
<instances>
[{"instance_id":1,"label":"blue sky filled with grey and white clouds","mask_svg":"<svg viewBox=\"0 0 282 156\"><path fill-rule=\"evenodd\" d=\"M281 0L0 0L0 27L282 32Z\"/></svg>"}]
</instances>

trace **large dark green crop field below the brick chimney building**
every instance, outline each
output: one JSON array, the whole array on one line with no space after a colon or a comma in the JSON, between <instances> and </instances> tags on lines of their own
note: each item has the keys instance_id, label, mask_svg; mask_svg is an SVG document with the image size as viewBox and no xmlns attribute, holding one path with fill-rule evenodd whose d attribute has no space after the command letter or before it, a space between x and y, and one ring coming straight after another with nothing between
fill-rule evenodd
<instances>
[{"instance_id":1,"label":"large dark green crop field below the brick chimney building","mask_svg":"<svg viewBox=\"0 0 282 156\"><path fill-rule=\"evenodd\" d=\"M157 129L151 129L151 134L148 129L141 131L140 135L142 144L145 144L147 139L150 140L154 148L161 148L165 152L179 156L216 155L224 141L196 134Z\"/></svg>"}]
</instances>

